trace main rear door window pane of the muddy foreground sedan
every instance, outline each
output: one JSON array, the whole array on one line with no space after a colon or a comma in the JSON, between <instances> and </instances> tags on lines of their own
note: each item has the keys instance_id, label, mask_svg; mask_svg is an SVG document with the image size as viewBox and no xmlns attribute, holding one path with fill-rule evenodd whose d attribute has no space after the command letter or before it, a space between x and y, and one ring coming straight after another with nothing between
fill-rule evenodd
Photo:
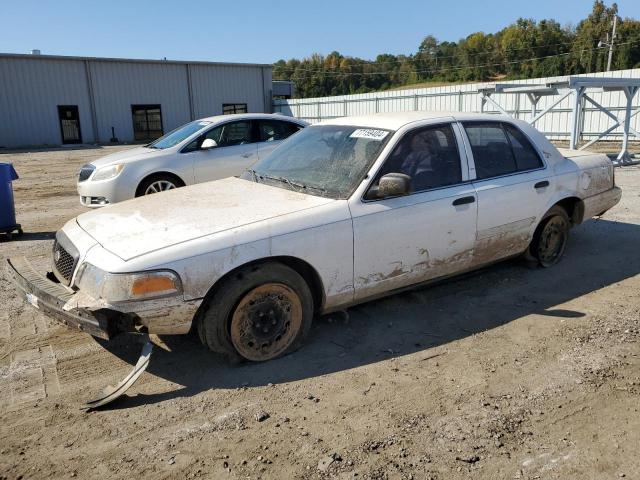
<instances>
[{"instance_id":1,"label":"main rear door window pane of the muddy foreground sedan","mask_svg":"<svg viewBox=\"0 0 640 480\"><path fill-rule=\"evenodd\" d=\"M517 171L509 139L500 123L479 122L463 125L471 144L478 180Z\"/></svg>"}]
</instances>

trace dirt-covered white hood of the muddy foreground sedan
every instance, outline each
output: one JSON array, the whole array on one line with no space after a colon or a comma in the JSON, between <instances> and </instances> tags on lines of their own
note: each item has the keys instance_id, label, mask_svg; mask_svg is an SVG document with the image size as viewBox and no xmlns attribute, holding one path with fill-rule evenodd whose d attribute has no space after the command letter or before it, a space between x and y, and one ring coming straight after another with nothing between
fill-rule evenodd
<instances>
[{"instance_id":1,"label":"dirt-covered white hood of the muddy foreground sedan","mask_svg":"<svg viewBox=\"0 0 640 480\"><path fill-rule=\"evenodd\" d=\"M127 261L332 201L226 178L117 203L84 213L77 222L105 249Z\"/></svg>"}]
</instances>

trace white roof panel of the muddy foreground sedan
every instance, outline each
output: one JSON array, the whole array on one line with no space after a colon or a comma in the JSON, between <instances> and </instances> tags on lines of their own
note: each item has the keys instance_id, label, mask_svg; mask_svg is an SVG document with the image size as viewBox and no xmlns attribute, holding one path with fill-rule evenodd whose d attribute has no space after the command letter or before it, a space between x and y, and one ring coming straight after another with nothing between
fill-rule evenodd
<instances>
[{"instance_id":1,"label":"white roof panel of the muddy foreground sedan","mask_svg":"<svg viewBox=\"0 0 640 480\"><path fill-rule=\"evenodd\" d=\"M324 120L315 125L349 125L367 128L382 128L385 130L398 130L410 123L422 120L443 119L446 121L458 120L513 120L503 114L495 113L462 113L462 112L393 112L376 113L372 115L362 115L356 117L338 117L331 120Z\"/></svg>"}]
</instances>

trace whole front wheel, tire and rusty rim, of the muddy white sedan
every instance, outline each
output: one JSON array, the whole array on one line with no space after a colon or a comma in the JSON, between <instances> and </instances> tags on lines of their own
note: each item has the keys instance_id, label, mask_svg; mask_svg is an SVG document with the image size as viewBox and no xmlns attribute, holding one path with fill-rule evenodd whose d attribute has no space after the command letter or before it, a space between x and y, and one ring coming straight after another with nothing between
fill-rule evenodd
<instances>
[{"instance_id":1,"label":"whole front wheel, tire and rusty rim, of the muddy white sedan","mask_svg":"<svg viewBox=\"0 0 640 480\"><path fill-rule=\"evenodd\" d=\"M302 276L269 262L239 270L212 292L198 334L209 349L233 362L264 362L303 344L313 311Z\"/></svg>"}]
</instances>

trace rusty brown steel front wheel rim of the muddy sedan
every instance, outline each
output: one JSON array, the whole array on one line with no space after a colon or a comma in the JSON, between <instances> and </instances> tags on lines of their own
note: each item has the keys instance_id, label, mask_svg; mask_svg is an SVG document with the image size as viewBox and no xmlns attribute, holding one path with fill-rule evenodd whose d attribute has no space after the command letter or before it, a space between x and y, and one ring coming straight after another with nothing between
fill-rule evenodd
<instances>
[{"instance_id":1,"label":"rusty brown steel front wheel rim of the muddy sedan","mask_svg":"<svg viewBox=\"0 0 640 480\"><path fill-rule=\"evenodd\" d=\"M231 343L248 360L284 353L302 327L302 302L291 288L267 283L250 290L231 317Z\"/></svg>"}]
</instances>

